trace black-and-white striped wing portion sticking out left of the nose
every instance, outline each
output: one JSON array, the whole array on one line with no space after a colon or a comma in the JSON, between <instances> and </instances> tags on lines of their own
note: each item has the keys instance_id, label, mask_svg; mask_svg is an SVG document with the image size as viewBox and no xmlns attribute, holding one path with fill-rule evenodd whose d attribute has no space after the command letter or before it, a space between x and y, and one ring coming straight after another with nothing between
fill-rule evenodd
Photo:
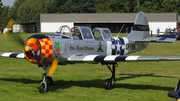
<instances>
[{"instance_id":1,"label":"black-and-white striped wing portion sticking out left of the nose","mask_svg":"<svg viewBox=\"0 0 180 101\"><path fill-rule=\"evenodd\" d=\"M12 57L12 58L24 58L25 59L24 53L10 53L10 52L2 53L2 52L0 52L0 56Z\"/></svg>"}]
</instances>

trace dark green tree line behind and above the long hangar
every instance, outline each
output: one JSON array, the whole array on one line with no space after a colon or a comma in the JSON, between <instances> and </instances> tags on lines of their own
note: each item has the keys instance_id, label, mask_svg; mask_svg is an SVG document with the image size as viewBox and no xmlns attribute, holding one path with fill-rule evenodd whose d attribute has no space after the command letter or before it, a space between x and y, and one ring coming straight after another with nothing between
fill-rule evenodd
<instances>
[{"instance_id":1,"label":"dark green tree line behind and above the long hangar","mask_svg":"<svg viewBox=\"0 0 180 101\"><path fill-rule=\"evenodd\" d=\"M0 0L0 29L10 19L39 22L41 13L166 13L180 14L180 0L16 0L12 7Z\"/></svg>"}]
</instances>

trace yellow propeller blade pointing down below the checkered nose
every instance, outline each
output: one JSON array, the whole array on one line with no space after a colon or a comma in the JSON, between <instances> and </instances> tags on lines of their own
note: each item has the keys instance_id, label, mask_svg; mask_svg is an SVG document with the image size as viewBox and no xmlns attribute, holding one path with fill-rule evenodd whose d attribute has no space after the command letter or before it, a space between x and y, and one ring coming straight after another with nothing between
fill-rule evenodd
<instances>
[{"instance_id":1,"label":"yellow propeller blade pointing down below the checkered nose","mask_svg":"<svg viewBox=\"0 0 180 101\"><path fill-rule=\"evenodd\" d=\"M57 65L58 65L58 59L55 58L51 64L51 67L49 68L49 70L47 72L47 75L49 75L51 77L53 75L54 71L56 70Z\"/></svg>"}]
</instances>

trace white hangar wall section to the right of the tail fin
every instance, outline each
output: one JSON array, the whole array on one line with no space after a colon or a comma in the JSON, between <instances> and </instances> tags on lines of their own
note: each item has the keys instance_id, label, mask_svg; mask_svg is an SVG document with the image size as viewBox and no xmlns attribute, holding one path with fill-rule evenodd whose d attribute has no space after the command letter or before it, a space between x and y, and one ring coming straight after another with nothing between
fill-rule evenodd
<instances>
[{"instance_id":1,"label":"white hangar wall section to the right of the tail fin","mask_svg":"<svg viewBox=\"0 0 180 101\"><path fill-rule=\"evenodd\" d=\"M153 34L157 34L157 29L160 29L160 32L165 32L166 28L177 28L177 22L149 22L150 31L152 30ZM160 33L163 34L163 33Z\"/></svg>"}]
</instances>

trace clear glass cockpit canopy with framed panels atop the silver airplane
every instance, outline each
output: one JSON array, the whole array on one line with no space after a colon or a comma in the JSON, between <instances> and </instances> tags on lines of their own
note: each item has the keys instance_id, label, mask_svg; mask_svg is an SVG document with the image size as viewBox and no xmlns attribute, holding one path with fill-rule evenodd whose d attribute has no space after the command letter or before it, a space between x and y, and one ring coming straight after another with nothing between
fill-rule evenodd
<instances>
[{"instance_id":1,"label":"clear glass cockpit canopy with framed panels atop the silver airplane","mask_svg":"<svg viewBox=\"0 0 180 101\"><path fill-rule=\"evenodd\" d=\"M75 26L75 36L73 38L71 29L64 25L61 26L55 34L66 35L74 40L97 40L97 41L111 41L112 34L108 28L94 28L93 32L87 26Z\"/></svg>"}]
</instances>

